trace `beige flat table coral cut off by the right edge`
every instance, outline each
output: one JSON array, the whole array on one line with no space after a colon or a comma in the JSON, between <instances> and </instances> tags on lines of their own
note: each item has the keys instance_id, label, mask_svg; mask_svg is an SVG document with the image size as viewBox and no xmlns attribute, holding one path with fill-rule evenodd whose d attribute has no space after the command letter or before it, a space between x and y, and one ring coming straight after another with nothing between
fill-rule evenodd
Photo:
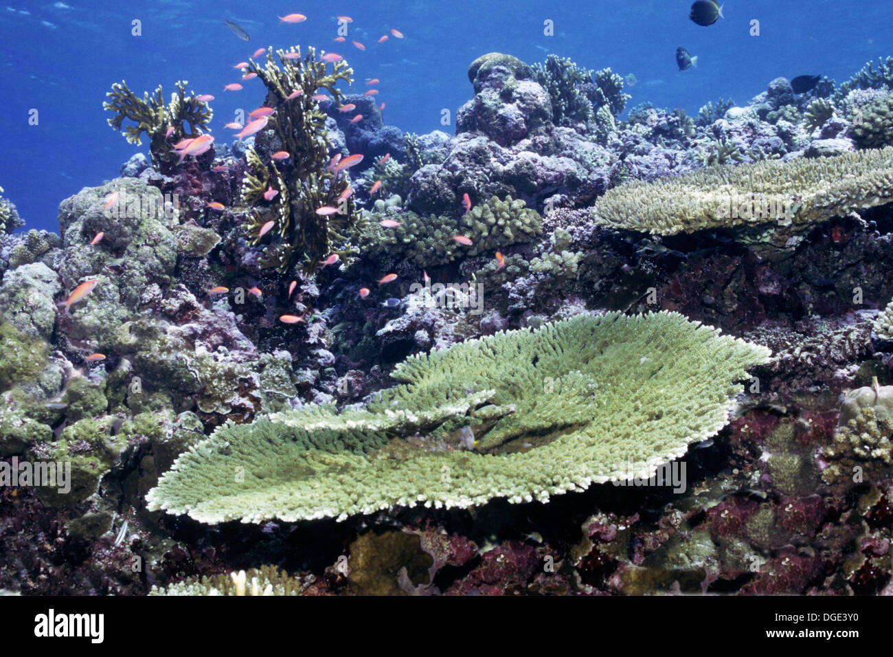
<instances>
[{"instance_id":1,"label":"beige flat table coral cut off by the right edge","mask_svg":"<svg viewBox=\"0 0 893 657\"><path fill-rule=\"evenodd\" d=\"M822 222L893 199L893 147L791 162L714 166L609 190L596 223L675 235L756 223Z\"/></svg>"}]
</instances>

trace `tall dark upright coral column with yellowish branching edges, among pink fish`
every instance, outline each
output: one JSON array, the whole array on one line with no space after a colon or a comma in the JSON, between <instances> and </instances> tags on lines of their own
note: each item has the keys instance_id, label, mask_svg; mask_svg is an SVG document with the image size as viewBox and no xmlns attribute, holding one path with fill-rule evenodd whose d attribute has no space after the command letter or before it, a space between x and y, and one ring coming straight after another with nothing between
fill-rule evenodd
<instances>
[{"instance_id":1,"label":"tall dark upright coral column with yellowish branching edges, among pink fish","mask_svg":"<svg viewBox=\"0 0 893 657\"><path fill-rule=\"evenodd\" d=\"M267 244L261 266L284 273L293 265L301 265L309 274L331 253L347 255L347 233L355 223L353 198L338 202L349 179L326 167L331 147L325 129L326 114L313 100L325 89L340 104L344 94L335 86L341 80L350 84L353 70L339 60L327 72L327 64L317 60L313 47L307 48L303 58L300 48L291 48L288 53L296 58L286 58L284 50L276 51L281 68L273 53L268 52L263 67L252 61L243 69L256 73L263 81L267 103L277 110L267 122L267 131L274 133L274 150L285 150L293 156L264 162L257 150L249 149L241 200L245 205L262 206L245 225L252 246L259 246L262 241ZM288 100L298 90L301 95ZM268 187L279 191L270 202L263 199ZM330 216L317 215L316 210L322 206L336 206L340 211ZM274 228L268 233L270 237L261 238L261 228L268 221L275 222Z\"/></svg>"}]
</instances>

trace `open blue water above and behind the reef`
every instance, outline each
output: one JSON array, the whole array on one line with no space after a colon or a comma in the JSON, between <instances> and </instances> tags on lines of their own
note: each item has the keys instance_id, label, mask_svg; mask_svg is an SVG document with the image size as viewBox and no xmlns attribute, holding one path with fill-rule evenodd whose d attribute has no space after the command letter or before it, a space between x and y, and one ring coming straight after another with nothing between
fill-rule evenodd
<instances>
[{"instance_id":1,"label":"open blue water above and behind the reef","mask_svg":"<svg viewBox=\"0 0 893 657\"><path fill-rule=\"evenodd\" d=\"M725 19L703 28L689 21L690 0L388 0L387 2L121 2L0 0L0 187L19 208L25 230L57 230L59 202L86 186L119 174L139 150L106 123L105 92L127 80L139 94L163 85L169 99L177 80L210 93L214 132L237 108L263 101L259 80L238 92L223 85L240 77L231 66L261 46L317 46L345 55L354 88L379 78L385 121L404 131L444 130L443 108L472 96L467 69L479 55L500 51L525 62L548 53L581 66L633 73L628 107L641 102L682 107L689 114L709 100L730 97L739 105L778 76L822 73L846 80L868 60L893 55L893 3L867 0L729 0ZM300 24L280 24L277 14L304 13ZM347 43L333 43L336 15L354 19ZM131 21L142 36L131 36ZM235 21L251 36L235 37L222 24ZM555 36L543 34L554 21ZM750 21L761 35L751 37ZM389 29L404 39L376 41ZM367 47L360 52L351 40ZM677 46L698 56L697 70L680 72ZM29 110L38 125L29 125ZM147 145L142 147L148 153Z\"/></svg>"}]
</instances>

